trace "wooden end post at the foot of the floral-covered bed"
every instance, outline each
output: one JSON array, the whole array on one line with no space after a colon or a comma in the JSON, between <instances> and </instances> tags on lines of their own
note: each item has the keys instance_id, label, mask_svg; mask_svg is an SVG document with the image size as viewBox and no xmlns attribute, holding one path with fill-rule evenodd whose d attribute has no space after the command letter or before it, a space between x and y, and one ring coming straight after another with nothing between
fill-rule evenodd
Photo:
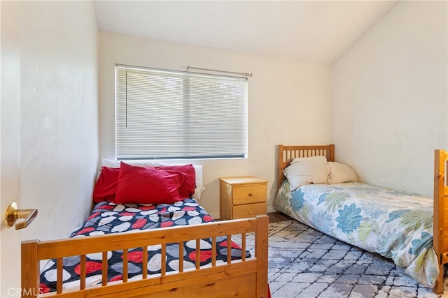
<instances>
[{"instance_id":1,"label":"wooden end post at the foot of the floral-covered bed","mask_svg":"<svg viewBox=\"0 0 448 298\"><path fill-rule=\"evenodd\" d=\"M444 234L444 199L445 199L445 165L447 156L444 150L435 150L434 153L434 231L433 247L439 263L439 276L435 281L433 292L443 292L443 234Z\"/></svg>"}]
</instances>

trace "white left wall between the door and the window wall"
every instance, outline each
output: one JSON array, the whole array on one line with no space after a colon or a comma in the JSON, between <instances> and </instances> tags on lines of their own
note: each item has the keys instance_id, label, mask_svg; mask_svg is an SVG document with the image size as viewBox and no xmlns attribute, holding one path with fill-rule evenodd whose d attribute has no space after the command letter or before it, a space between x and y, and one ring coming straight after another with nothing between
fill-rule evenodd
<instances>
[{"instance_id":1,"label":"white left wall between the door and the window wall","mask_svg":"<svg viewBox=\"0 0 448 298\"><path fill-rule=\"evenodd\" d=\"M97 24L90 1L29 1L21 24L22 239L66 238L87 216L98 161Z\"/></svg>"}]
</instances>

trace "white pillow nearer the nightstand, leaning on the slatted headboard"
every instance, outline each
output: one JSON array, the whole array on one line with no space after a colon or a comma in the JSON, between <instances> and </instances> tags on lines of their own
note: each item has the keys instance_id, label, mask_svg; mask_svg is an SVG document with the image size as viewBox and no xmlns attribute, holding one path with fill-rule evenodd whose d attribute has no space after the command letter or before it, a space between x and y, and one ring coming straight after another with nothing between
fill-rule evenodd
<instances>
[{"instance_id":1,"label":"white pillow nearer the nightstand, leaning on the slatted headboard","mask_svg":"<svg viewBox=\"0 0 448 298\"><path fill-rule=\"evenodd\" d=\"M288 179L291 191L304 184L324 184L328 181L327 158L300 158L291 163L283 174Z\"/></svg>"}]
</instances>

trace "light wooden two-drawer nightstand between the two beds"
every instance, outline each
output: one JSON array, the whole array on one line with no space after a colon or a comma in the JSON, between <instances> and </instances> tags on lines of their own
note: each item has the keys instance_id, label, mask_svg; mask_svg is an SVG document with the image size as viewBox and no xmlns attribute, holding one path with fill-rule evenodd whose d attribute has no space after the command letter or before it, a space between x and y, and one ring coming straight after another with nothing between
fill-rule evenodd
<instances>
[{"instance_id":1,"label":"light wooden two-drawer nightstand between the two beds","mask_svg":"<svg viewBox=\"0 0 448 298\"><path fill-rule=\"evenodd\" d=\"M220 178L220 219L266 214L267 182L253 176Z\"/></svg>"}]
</instances>

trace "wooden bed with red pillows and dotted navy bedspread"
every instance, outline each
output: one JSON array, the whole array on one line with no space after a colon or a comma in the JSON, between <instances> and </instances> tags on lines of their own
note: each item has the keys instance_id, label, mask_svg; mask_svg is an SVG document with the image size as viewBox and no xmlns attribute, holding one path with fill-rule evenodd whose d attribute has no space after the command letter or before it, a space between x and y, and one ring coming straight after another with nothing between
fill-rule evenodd
<instances>
[{"instance_id":1,"label":"wooden bed with red pillows and dotted navy bedspread","mask_svg":"<svg viewBox=\"0 0 448 298\"><path fill-rule=\"evenodd\" d=\"M190 176L200 167L104 164L69 239L22 241L22 297L269 297L266 215L214 221ZM130 199L142 193L153 202Z\"/></svg>"}]
</instances>

